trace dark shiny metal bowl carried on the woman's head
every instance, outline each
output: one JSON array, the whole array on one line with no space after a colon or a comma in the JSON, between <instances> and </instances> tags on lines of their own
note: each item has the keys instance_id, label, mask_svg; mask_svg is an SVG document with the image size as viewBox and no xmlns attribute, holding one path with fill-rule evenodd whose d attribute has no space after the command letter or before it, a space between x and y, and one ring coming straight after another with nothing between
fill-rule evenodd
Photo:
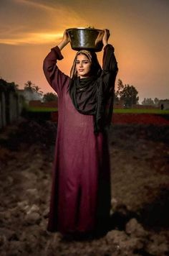
<instances>
[{"instance_id":1,"label":"dark shiny metal bowl carried on the woman's head","mask_svg":"<svg viewBox=\"0 0 169 256\"><path fill-rule=\"evenodd\" d=\"M94 28L77 27L67 29L72 50L92 50L100 52L102 50L102 37L104 30Z\"/></svg>"}]
</instances>

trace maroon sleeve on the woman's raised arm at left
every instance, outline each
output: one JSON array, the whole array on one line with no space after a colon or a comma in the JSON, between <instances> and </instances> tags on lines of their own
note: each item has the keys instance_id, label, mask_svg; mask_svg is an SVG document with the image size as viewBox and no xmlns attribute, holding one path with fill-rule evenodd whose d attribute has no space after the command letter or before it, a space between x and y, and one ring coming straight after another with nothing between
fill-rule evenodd
<instances>
[{"instance_id":1,"label":"maroon sleeve on the woman's raised arm at left","mask_svg":"<svg viewBox=\"0 0 169 256\"><path fill-rule=\"evenodd\" d=\"M63 86L67 83L67 80L69 80L69 76L62 73L56 65L57 60L62 59L62 53L59 47L56 46L51 49L51 52L49 52L43 63L44 76L47 78L49 85L57 92L58 96Z\"/></svg>"}]
</instances>

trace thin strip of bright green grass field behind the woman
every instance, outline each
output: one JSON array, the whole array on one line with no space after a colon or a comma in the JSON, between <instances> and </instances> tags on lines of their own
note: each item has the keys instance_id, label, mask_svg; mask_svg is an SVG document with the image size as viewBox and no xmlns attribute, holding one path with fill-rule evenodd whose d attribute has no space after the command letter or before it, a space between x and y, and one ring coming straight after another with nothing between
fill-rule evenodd
<instances>
[{"instance_id":1,"label":"thin strip of bright green grass field behind the woman","mask_svg":"<svg viewBox=\"0 0 169 256\"><path fill-rule=\"evenodd\" d=\"M58 109L54 107L28 106L26 110L30 112L55 112ZM113 112L119 114L169 114L169 110L161 109L114 109Z\"/></svg>"}]
</instances>

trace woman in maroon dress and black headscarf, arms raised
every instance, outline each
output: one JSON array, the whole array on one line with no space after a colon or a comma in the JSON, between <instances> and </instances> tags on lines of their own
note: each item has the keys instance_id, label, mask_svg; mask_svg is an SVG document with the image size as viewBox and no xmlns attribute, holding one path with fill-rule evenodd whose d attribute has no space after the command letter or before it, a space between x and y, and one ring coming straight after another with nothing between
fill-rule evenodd
<instances>
[{"instance_id":1,"label":"woman in maroon dress and black headscarf, arms raised","mask_svg":"<svg viewBox=\"0 0 169 256\"><path fill-rule=\"evenodd\" d=\"M106 232L110 217L110 159L105 127L111 119L117 75L114 47L105 29L103 69L95 52L77 52L66 76L57 68L63 40L44 59L44 74L58 94L58 127L49 211L50 232ZM107 107L108 106L108 107Z\"/></svg>"}]
</instances>

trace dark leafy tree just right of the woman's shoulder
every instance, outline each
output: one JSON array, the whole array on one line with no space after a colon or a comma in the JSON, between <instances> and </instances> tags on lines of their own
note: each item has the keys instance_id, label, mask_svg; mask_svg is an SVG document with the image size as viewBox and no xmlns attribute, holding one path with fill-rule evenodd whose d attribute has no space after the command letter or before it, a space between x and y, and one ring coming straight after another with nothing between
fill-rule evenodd
<instances>
[{"instance_id":1,"label":"dark leafy tree just right of the woman's shoulder","mask_svg":"<svg viewBox=\"0 0 169 256\"><path fill-rule=\"evenodd\" d=\"M117 92L116 95L120 100L124 101L125 106L132 107L133 104L137 104L139 97L135 86L129 84L123 84L122 80L117 81Z\"/></svg>"}]
</instances>

